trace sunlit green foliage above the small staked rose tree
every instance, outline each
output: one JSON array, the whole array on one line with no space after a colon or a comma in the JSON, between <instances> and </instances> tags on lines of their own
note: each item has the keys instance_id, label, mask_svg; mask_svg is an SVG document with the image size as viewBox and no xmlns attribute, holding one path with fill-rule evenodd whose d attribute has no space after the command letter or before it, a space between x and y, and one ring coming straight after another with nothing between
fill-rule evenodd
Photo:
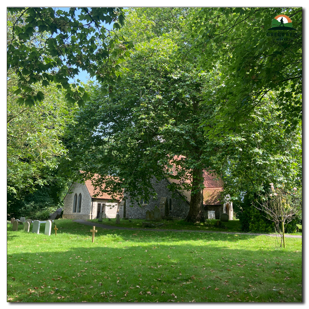
<instances>
[{"instance_id":1,"label":"sunlit green foliage above the small staked rose tree","mask_svg":"<svg viewBox=\"0 0 309 309\"><path fill-rule=\"evenodd\" d=\"M252 111L250 125L239 124L216 136L214 168L225 181L225 191L241 201L243 192L265 192L272 180L287 186L302 185L302 127L288 133L281 121L276 93ZM224 138L223 138L224 136Z\"/></svg>"}]
</instances>

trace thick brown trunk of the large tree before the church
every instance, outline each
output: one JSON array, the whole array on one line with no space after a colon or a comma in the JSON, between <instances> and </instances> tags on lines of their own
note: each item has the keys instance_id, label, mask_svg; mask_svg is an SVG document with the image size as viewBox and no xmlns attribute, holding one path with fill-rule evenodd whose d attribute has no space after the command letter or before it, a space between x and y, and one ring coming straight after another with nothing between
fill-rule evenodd
<instances>
[{"instance_id":1,"label":"thick brown trunk of the large tree before the church","mask_svg":"<svg viewBox=\"0 0 309 309\"><path fill-rule=\"evenodd\" d=\"M187 222L205 222L203 210L203 170L194 168L192 172L191 201Z\"/></svg>"}]
</instances>

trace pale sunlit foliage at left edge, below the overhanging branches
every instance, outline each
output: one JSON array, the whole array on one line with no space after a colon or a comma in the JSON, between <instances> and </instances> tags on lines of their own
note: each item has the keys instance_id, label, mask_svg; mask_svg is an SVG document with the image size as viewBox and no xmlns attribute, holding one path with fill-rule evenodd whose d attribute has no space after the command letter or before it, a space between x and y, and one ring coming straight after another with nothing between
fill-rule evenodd
<instances>
[{"instance_id":1,"label":"pale sunlit foliage at left edge, below the overhanging branches","mask_svg":"<svg viewBox=\"0 0 309 309\"><path fill-rule=\"evenodd\" d=\"M75 106L67 107L61 90L50 84L35 107L17 103L14 74L7 81L7 187L9 194L32 193L53 179L67 150L61 137L74 123ZM27 192L28 191L28 192Z\"/></svg>"}]
</instances>

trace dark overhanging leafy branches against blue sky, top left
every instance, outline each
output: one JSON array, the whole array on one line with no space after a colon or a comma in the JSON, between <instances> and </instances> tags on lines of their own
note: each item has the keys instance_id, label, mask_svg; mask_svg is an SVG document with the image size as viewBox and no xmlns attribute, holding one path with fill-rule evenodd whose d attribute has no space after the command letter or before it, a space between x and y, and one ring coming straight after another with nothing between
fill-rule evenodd
<instances>
[{"instance_id":1,"label":"dark overhanging leafy branches against blue sky, top left","mask_svg":"<svg viewBox=\"0 0 309 309\"><path fill-rule=\"evenodd\" d=\"M42 86L58 83L70 103L83 105L87 93L74 80L84 70L111 92L119 80L119 62L132 47L124 37L108 30L124 25L121 8L71 7L68 12L51 7L8 8L7 68L18 78L17 103L33 106L44 100Z\"/></svg>"}]
</instances>

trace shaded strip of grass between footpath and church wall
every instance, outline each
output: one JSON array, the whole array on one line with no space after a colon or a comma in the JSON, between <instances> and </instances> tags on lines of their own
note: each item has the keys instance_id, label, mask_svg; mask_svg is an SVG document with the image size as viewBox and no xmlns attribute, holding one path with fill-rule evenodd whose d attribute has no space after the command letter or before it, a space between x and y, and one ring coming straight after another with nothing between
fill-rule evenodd
<instances>
[{"instance_id":1,"label":"shaded strip of grass between footpath and church wall","mask_svg":"<svg viewBox=\"0 0 309 309\"><path fill-rule=\"evenodd\" d=\"M99 222L99 219L87 220L89 222L101 223L111 226L123 226L123 227L133 227L133 228L142 228L142 222L146 222L144 219L130 219L124 220L120 219L120 225L116 224L116 219L103 219L102 222ZM162 220L159 222L149 221L153 224L153 228L158 230L189 230L189 231L224 231L224 232L241 232L239 220L230 220L228 222L221 222L220 226L217 226L218 220L210 219L206 222L190 223L185 222L184 220ZM162 224L163 223L163 224ZM160 224L160 225L159 225Z\"/></svg>"}]
</instances>

